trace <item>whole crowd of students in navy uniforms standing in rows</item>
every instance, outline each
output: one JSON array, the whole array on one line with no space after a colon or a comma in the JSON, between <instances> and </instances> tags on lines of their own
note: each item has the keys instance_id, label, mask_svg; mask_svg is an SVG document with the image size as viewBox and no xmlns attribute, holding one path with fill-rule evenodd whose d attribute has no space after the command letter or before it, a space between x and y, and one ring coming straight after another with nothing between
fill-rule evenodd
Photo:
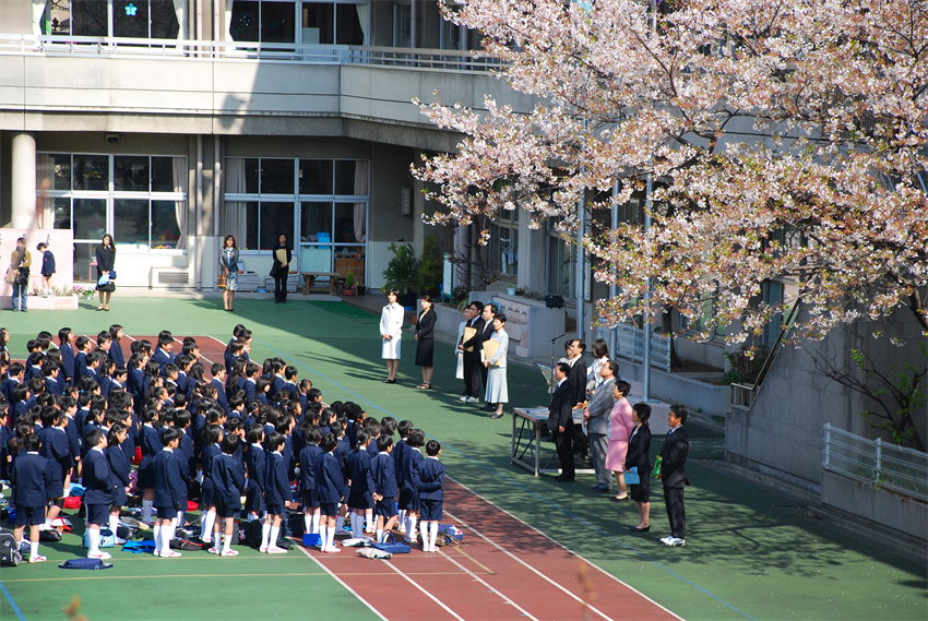
<instances>
[{"instance_id":1,"label":"whole crowd of students in navy uniforms standing in rows","mask_svg":"<svg viewBox=\"0 0 928 621\"><path fill-rule=\"evenodd\" d=\"M79 478L93 559L110 558L99 549L100 527L117 533L133 492L141 494L141 521L153 526L155 556L180 557L170 542L187 524L197 488L200 539L215 554L238 553L229 546L242 511L249 523L261 521L261 552L286 552L277 546L282 523L287 509L298 507L324 552L341 551L334 537L347 535L348 515L355 537L376 534L380 541L395 526L411 542L421 517L423 550L435 551L441 446L426 443L411 421L378 421L352 402L325 404L281 359L258 366L242 325L224 362L210 367L210 381L194 339L185 339L178 355L168 331L156 346L133 341L126 365L122 337L118 325L96 339L62 329L55 347L43 332L28 342L24 365L10 360L9 333L0 329L0 479L12 482L23 547L29 526L29 562L46 560L39 530L55 524Z\"/></svg>"}]
</instances>

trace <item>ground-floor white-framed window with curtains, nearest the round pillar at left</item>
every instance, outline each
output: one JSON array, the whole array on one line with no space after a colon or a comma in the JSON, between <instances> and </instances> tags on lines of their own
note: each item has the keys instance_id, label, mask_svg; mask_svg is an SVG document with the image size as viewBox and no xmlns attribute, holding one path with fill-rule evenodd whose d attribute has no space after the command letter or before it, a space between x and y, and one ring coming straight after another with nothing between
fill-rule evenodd
<instances>
[{"instance_id":1,"label":"ground-floor white-framed window with curtains, nearest the round pillar at left","mask_svg":"<svg viewBox=\"0 0 928 621\"><path fill-rule=\"evenodd\" d=\"M74 278L94 277L94 251L107 232L132 251L187 247L187 158L39 153L36 187L43 226L74 232ZM39 190L43 192L43 190Z\"/></svg>"}]
</instances>

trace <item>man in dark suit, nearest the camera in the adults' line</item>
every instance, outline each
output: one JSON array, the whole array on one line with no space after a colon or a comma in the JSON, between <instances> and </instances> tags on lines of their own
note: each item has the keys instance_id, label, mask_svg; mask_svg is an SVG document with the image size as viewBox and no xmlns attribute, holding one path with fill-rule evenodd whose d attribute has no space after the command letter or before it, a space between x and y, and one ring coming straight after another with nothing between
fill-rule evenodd
<instances>
[{"instance_id":1,"label":"man in dark suit, nearest the camera in the adults' line","mask_svg":"<svg viewBox=\"0 0 928 621\"><path fill-rule=\"evenodd\" d=\"M687 453L690 440L683 423L687 421L687 406L675 404L667 415L670 432L661 449L661 473L657 478L664 485L664 503L670 520L670 535L661 541L665 546L687 545L687 512L683 507L683 487L690 485L687 478Z\"/></svg>"}]
</instances>

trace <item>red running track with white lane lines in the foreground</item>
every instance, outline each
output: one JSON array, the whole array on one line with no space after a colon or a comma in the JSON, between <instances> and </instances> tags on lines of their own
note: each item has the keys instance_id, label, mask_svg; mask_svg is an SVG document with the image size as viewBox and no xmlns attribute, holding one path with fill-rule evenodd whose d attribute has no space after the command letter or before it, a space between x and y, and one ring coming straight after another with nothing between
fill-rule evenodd
<instances>
[{"instance_id":1,"label":"red running track with white lane lines in the foreground","mask_svg":"<svg viewBox=\"0 0 928 621\"><path fill-rule=\"evenodd\" d=\"M444 522L465 545L390 561L354 550L309 553L388 619L679 619L612 576L454 481L444 488ZM581 565L592 596L583 602Z\"/></svg>"}]
</instances>

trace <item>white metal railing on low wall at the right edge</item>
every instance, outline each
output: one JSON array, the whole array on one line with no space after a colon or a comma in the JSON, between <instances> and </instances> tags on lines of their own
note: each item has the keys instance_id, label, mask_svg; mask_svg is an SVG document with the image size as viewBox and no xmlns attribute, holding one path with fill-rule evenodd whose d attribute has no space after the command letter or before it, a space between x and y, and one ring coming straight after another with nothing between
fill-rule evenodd
<instances>
[{"instance_id":1,"label":"white metal railing on low wall at the right edge","mask_svg":"<svg viewBox=\"0 0 928 621\"><path fill-rule=\"evenodd\" d=\"M824 425L822 467L928 502L928 453Z\"/></svg>"}]
</instances>

